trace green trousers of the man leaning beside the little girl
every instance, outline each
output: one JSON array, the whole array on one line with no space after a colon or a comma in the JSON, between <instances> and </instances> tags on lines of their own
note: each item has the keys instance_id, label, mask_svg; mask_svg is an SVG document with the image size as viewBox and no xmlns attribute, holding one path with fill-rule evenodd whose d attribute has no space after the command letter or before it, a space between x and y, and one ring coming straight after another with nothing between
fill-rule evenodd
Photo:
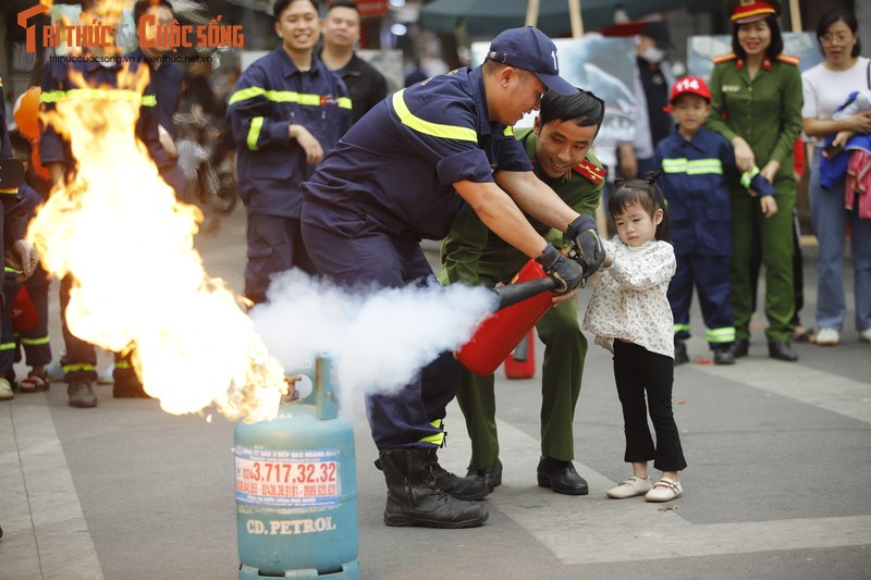
<instances>
[{"instance_id":1,"label":"green trousers of the man leaning beside the little girl","mask_svg":"<svg viewBox=\"0 0 871 580\"><path fill-rule=\"evenodd\" d=\"M541 378L541 453L571 461L575 458L572 424L580 394L587 338L580 332L578 307L574 300L551 308L536 325L544 343ZM466 369L456 394L471 439L469 467L486 469L499 456L496 402L492 374L479 377Z\"/></svg>"}]
</instances>

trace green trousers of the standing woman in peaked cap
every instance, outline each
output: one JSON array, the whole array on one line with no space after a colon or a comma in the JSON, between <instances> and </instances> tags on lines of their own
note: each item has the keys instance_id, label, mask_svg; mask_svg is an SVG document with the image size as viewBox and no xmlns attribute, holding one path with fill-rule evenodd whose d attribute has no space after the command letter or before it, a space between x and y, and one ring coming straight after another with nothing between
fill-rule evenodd
<instances>
[{"instance_id":1,"label":"green trousers of the standing woman in peaked cap","mask_svg":"<svg viewBox=\"0 0 871 580\"><path fill-rule=\"evenodd\" d=\"M793 287L793 209L796 188L793 180L777 180L777 213L765 218L759 198L747 189L732 188L732 313L737 338L750 337L753 284L750 283L752 259L752 222L759 223L762 262L765 266L765 318L769 342L786 342L793 334L795 291Z\"/></svg>"}]
</instances>

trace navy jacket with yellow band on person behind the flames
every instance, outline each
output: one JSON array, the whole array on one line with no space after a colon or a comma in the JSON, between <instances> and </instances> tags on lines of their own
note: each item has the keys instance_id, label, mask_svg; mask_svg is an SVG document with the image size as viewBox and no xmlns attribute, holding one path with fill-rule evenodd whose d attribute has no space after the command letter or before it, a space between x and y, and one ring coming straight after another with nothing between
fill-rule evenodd
<instances>
[{"instance_id":1,"label":"navy jacket with yellow band on person behind the flames","mask_svg":"<svg viewBox=\"0 0 871 580\"><path fill-rule=\"evenodd\" d=\"M103 91L109 90L133 90L128 87L119 87L118 78L119 73L128 71L135 74L143 63L132 62L123 59L113 61L111 66L103 66L87 52L83 53L84 61L58 61L50 62L46 67L42 76L42 94L39 97L40 109L44 111L51 111L54 109L56 103L63 99L105 99L107 96ZM74 74L81 74L84 82L89 87L83 89L74 81ZM161 174L164 169L174 168L175 162L169 157L163 146L160 144L160 138L157 133L157 120L155 118L156 99L154 95L136 94L136 99L139 100L139 118L136 121L136 136L143 141L148 149L151 159ZM75 160L73 159L70 143L62 137L54 129L53 126L40 125L40 141L39 155L42 158L42 163L63 163L66 171L75 170Z\"/></svg>"}]
</instances>

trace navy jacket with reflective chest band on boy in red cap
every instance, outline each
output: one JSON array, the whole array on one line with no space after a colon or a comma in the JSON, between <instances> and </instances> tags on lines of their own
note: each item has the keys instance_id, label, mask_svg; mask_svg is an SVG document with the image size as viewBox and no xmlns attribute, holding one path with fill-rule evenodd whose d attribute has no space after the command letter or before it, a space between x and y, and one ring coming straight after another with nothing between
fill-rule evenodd
<instances>
[{"instance_id":1,"label":"navy jacket with reflective chest band on boy in red cap","mask_svg":"<svg viewBox=\"0 0 871 580\"><path fill-rule=\"evenodd\" d=\"M704 127L687 140L672 133L657 146L659 185L668 201L676 255L731 256L732 205L728 177L734 177L735 153L719 133Z\"/></svg>"}]
</instances>

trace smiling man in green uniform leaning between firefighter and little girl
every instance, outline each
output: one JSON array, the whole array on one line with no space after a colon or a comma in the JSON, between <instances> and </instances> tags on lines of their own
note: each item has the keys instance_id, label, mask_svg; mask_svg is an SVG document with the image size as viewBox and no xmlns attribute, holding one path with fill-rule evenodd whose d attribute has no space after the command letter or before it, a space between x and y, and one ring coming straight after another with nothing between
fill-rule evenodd
<instances>
[{"instance_id":1,"label":"smiling man in green uniform leaning between firefighter and little girl","mask_svg":"<svg viewBox=\"0 0 871 580\"><path fill-rule=\"evenodd\" d=\"M604 170L590 151L604 115L604 103L593 94L577 90L563 97L553 91L541 99L533 128L516 131L532 162L535 174L578 213L593 217L602 196ZM530 223L557 247L565 245L563 232L538 220ZM442 244L443 284L507 284L527 262L522 251L490 233L478 215L466 209L454 222ZM544 343L541 379L541 460L539 485L556 493L586 495L587 482L575 470L572 424L580 394L587 340L580 332L577 303L556 305L536 325ZM490 491L500 485L502 462L495 423L494 379L463 369L457 403L466 417L471 439L469 472L482 477Z\"/></svg>"}]
</instances>

